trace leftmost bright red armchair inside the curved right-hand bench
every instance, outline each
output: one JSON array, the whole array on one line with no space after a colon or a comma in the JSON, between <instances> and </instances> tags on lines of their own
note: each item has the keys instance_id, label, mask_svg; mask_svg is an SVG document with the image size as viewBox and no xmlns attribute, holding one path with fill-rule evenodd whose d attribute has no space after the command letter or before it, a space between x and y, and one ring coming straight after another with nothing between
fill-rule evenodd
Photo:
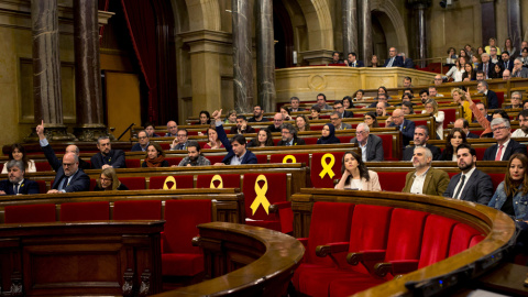
<instances>
[{"instance_id":1,"label":"leftmost bright red armchair inside the curved right-hand bench","mask_svg":"<svg viewBox=\"0 0 528 297\"><path fill-rule=\"evenodd\" d=\"M349 242L350 223L354 212L353 204L315 202L311 212L310 232L304 242L306 252L304 263L295 271L293 283L299 289L299 276L310 267L336 267L330 257L318 257L318 245L331 242Z\"/></svg>"}]
</instances>

